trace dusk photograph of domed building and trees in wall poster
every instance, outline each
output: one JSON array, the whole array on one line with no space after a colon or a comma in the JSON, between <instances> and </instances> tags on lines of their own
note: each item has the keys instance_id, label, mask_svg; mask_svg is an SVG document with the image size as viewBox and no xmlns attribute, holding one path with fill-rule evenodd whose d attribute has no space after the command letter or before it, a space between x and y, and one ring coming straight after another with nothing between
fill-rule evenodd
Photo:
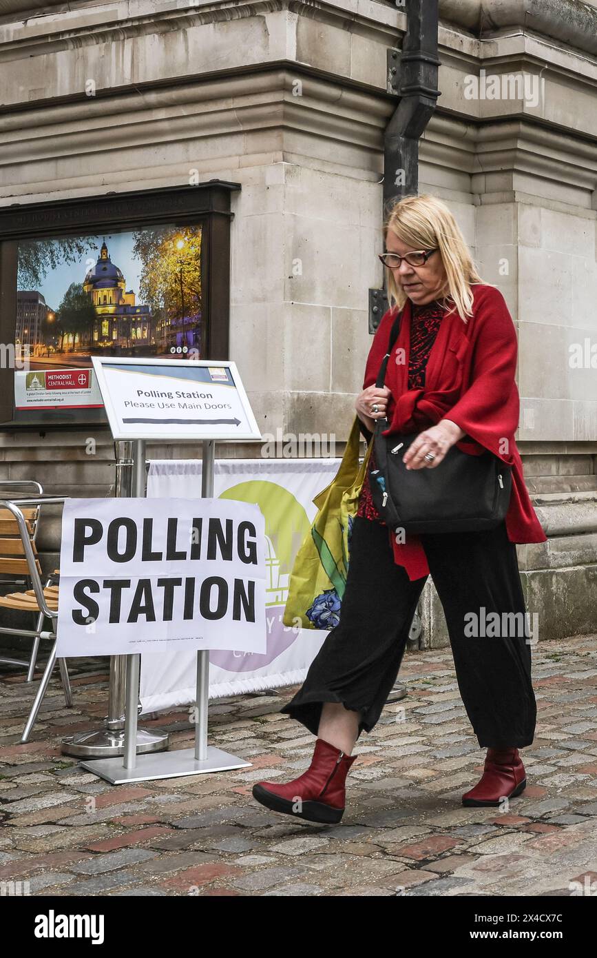
<instances>
[{"instance_id":1,"label":"dusk photograph of domed building and trees in wall poster","mask_svg":"<svg viewBox=\"0 0 597 958\"><path fill-rule=\"evenodd\" d=\"M201 244L199 225L24 243L17 332L34 367L86 367L92 354L203 354ZM36 326L24 312L30 300L44 305Z\"/></svg>"}]
</instances>

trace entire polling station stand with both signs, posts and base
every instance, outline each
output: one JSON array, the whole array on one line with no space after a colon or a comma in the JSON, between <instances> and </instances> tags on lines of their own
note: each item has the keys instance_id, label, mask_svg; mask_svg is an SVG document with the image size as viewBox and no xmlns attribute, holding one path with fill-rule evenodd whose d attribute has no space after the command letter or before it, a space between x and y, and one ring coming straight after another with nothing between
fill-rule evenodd
<instances>
[{"instance_id":1,"label":"entire polling station stand with both signs, posts and base","mask_svg":"<svg viewBox=\"0 0 597 958\"><path fill-rule=\"evenodd\" d=\"M265 650L265 526L254 504L213 500L213 464L216 440L261 440L253 410L228 360L92 361L112 435L132 441L136 499L107 506L101 500L97 515L83 500L82 512L75 507L76 513L65 513L58 635L64 626L66 651L59 654L68 655L74 648L69 643L80 643L80 630L89 629L88 649L103 641L105 654L126 655L123 760L81 765L115 785L245 767L250 763L208 746L209 650ZM201 442L201 499L145 499L145 443L151 439ZM119 504L129 512L122 514ZM88 551L96 549L98 566ZM195 748L138 757L141 651L188 643L198 650Z\"/></svg>"}]
</instances>

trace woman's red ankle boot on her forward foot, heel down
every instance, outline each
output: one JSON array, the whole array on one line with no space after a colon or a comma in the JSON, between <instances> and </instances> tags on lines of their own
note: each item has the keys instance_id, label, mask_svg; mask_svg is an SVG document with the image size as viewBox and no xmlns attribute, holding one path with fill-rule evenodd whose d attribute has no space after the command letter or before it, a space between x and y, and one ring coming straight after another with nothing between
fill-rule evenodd
<instances>
[{"instance_id":1,"label":"woman's red ankle boot on her forward foot, heel down","mask_svg":"<svg viewBox=\"0 0 597 958\"><path fill-rule=\"evenodd\" d=\"M346 775L356 757L318 739L311 764L302 775L284 785L257 782L253 796L268 809L310 822L336 824L343 816Z\"/></svg>"}]
</instances>

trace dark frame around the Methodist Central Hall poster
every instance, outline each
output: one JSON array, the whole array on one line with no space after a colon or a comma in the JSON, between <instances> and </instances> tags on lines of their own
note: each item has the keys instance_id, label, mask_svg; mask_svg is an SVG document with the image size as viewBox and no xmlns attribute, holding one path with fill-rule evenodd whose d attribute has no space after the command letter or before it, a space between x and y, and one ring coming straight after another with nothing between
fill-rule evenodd
<instances>
[{"instance_id":1,"label":"dark frame around the Methodist Central Hall poster","mask_svg":"<svg viewBox=\"0 0 597 958\"><path fill-rule=\"evenodd\" d=\"M213 179L197 186L108 193L0 208L0 343L13 343L19 239L109 233L172 223L201 225L205 359L229 359L231 194L239 183ZM0 429L106 425L103 409L53 410L20 419L14 410L14 370L0 368Z\"/></svg>"}]
</instances>

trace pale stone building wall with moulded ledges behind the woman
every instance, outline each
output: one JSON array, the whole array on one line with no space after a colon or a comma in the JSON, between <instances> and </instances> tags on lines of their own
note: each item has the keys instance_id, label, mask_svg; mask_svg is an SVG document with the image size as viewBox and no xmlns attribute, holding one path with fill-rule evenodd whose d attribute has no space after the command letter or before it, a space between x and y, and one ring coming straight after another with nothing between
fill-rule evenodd
<instances>
[{"instance_id":1,"label":"pale stone building wall with moulded ledges behind the woman","mask_svg":"<svg viewBox=\"0 0 597 958\"><path fill-rule=\"evenodd\" d=\"M594 7L441 2L441 97L420 149L420 191L449 203L519 334L520 451L549 535L520 562L543 638L595 625L597 391L594 368L569 361L597 343ZM405 25L381 0L0 0L0 204L186 184L195 171L240 184L230 358L264 434L335 434L342 455L367 289L382 283L387 49ZM492 78L509 94L523 76L522 96L487 95ZM113 445L93 435L89 456L89 430L0 434L0 478L108 494ZM444 644L431 588L424 621L425 641Z\"/></svg>"}]
</instances>

